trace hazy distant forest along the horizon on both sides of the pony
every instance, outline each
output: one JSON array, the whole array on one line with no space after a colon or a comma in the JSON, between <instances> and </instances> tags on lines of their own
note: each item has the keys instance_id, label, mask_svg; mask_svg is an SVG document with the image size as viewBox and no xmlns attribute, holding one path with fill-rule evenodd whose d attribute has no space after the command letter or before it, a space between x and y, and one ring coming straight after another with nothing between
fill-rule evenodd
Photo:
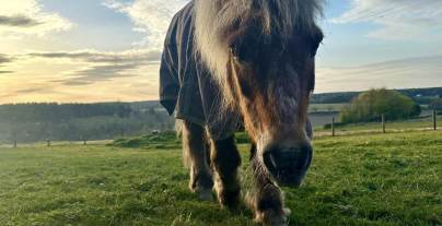
<instances>
[{"instance_id":1,"label":"hazy distant forest along the horizon on both sides of the pony","mask_svg":"<svg viewBox=\"0 0 442 226\"><path fill-rule=\"evenodd\" d=\"M419 105L429 105L442 97L442 87L399 92ZM314 94L312 104L350 103L359 94ZM166 114L159 102L0 105L0 143L3 144L11 144L14 140L19 143L109 140L173 128L173 117Z\"/></svg>"}]
</instances>

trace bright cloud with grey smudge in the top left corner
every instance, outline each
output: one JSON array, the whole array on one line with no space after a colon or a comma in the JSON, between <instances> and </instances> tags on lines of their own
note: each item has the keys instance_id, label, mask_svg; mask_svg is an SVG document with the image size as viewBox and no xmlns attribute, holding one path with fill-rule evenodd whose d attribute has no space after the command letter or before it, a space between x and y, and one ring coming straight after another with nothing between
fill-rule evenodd
<instances>
[{"instance_id":1,"label":"bright cloud with grey smudge in the top left corner","mask_svg":"<svg viewBox=\"0 0 442 226\"><path fill-rule=\"evenodd\" d=\"M70 29L73 24L57 13L43 11L37 0L0 0L0 36L44 36Z\"/></svg>"}]
</instances>

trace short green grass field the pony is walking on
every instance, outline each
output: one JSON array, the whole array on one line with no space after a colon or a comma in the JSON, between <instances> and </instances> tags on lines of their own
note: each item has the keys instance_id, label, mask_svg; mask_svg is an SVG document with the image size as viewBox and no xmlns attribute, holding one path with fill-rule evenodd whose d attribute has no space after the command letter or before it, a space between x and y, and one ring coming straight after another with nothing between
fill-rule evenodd
<instances>
[{"instance_id":1,"label":"short green grass field the pony is walking on","mask_svg":"<svg viewBox=\"0 0 442 226\"><path fill-rule=\"evenodd\" d=\"M137 145L136 145L137 146ZM442 132L318 138L291 225L442 225ZM241 145L247 167L247 145ZM187 190L181 151L0 148L0 225L254 225Z\"/></svg>"}]
</instances>

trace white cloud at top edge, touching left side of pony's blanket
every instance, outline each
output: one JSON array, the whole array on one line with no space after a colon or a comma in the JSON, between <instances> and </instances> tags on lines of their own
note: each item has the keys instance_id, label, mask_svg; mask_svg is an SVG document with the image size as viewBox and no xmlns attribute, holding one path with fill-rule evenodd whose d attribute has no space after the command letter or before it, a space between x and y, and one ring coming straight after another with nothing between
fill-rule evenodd
<instances>
[{"instance_id":1,"label":"white cloud at top edge, touching left side of pony's blanket","mask_svg":"<svg viewBox=\"0 0 442 226\"><path fill-rule=\"evenodd\" d=\"M106 0L104 5L125 13L131 19L135 24L133 31L147 35L140 41L141 45L160 49L173 15L187 2L188 0L135 0L127 3L118 0Z\"/></svg>"}]
</instances>

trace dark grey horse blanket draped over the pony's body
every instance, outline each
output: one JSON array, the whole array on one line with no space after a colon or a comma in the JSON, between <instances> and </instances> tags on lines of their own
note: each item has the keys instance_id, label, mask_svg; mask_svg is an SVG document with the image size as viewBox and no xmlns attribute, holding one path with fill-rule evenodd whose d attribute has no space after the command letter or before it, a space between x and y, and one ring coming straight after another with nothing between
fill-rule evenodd
<instances>
[{"instance_id":1,"label":"dark grey horse blanket draped over the pony's body","mask_svg":"<svg viewBox=\"0 0 442 226\"><path fill-rule=\"evenodd\" d=\"M239 112L221 109L222 95L194 47L194 2L172 20L160 67L160 103L177 119L207 127L212 139L232 135ZM222 112L222 114L221 114Z\"/></svg>"}]
</instances>

